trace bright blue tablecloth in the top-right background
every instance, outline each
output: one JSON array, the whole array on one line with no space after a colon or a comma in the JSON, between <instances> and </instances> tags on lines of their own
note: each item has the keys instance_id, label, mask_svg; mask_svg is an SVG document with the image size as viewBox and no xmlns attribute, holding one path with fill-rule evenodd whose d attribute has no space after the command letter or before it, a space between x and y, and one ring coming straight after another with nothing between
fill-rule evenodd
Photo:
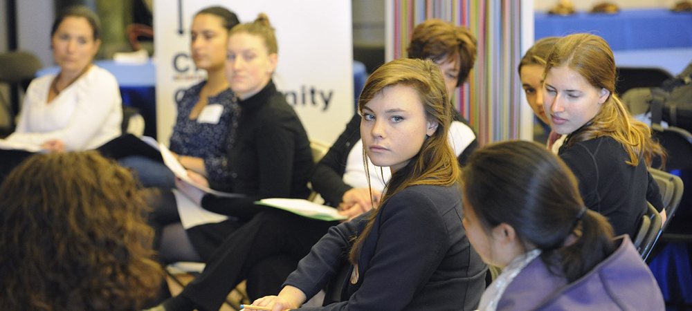
<instances>
[{"instance_id":1,"label":"bright blue tablecloth in the top-right background","mask_svg":"<svg viewBox=\"0 0 692 311\"><path fill-rule=\"evenodd\" d=\"M620 10L615 14L577 12L574 15L535 13L535 39L592 32L612 50L692 48L692 12L667 9Z\"/></svg>"}]
</instances>

